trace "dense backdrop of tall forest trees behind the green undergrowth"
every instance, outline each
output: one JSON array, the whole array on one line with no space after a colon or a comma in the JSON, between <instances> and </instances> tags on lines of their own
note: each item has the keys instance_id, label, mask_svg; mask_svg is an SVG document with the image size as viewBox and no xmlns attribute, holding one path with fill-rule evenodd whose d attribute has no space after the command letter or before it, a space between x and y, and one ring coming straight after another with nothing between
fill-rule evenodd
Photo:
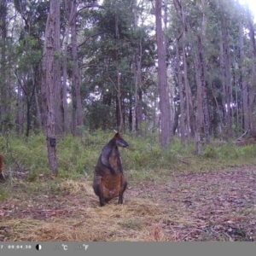
<instances>
[{"instance_id":1,"label":"dense backdrop of tall forest trees behind the green undergrowth","mask_svg":"<svg viewBox=\"0 0 256 256\"><path fill-rule=\"evenodd\" d=\"M2 133L46 127L45 33L58 2L56 136L160 132L166 147L173 136L209 143L254 133L255 23L235 0L2 0Z\"/></svg>"}]
</instances>

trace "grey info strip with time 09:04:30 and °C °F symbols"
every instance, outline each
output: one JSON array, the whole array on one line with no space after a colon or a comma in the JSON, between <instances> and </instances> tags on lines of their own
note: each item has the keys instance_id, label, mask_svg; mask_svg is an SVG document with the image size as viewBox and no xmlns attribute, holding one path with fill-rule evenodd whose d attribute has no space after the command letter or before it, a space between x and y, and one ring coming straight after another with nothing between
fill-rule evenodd
<instances>
[{"instance_id":1,"label":"grey info strip with time 09:04:30 and \u00b0C \u00b0F symbols","mask_svg":"<svg viewBox=\"0 0 256 256\"><path fill-rule=\"evenodd\" d=\"M0 241L1 256L255 256L255 252L256 243L246 241Z\"/></svg>"}]
</instances>

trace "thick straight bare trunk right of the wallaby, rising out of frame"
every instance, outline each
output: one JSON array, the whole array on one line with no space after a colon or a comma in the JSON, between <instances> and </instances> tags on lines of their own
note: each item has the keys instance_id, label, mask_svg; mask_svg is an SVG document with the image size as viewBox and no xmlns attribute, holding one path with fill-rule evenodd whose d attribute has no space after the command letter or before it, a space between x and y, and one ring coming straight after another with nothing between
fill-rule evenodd
<instances>
[{"instance_id":1,"label":"thick straight bare trunk right of the wallaby, rising out of frame","mask_svg":"<svg viewBox=\"0 0 256 256\"><path fill-rule=\"evenodd\" d=\"M161 21L161 0L155 0L155 27L158 55L158 85L160 95L160 146L168 148L170 145L170 101L166 79L166 44L163 38Z\"/></svg>"}]
</instances>

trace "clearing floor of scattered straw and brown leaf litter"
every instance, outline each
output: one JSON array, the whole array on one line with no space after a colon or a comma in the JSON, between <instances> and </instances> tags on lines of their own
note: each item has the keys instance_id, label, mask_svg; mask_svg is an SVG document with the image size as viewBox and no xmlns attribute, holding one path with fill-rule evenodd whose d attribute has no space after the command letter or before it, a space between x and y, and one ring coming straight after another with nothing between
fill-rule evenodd
<instances>
[{"instance_id":1,"label":"clearing floor of scattered straw and brown leaf litter","mask_svg":"<svg viewBox=\"0 0 256 256\"><path fill-rule=\"evenodd\" d=\"M17 182L0 204L0 241L256 241L254 166L129 185L124 205L99 207L86 180L29 195Z\"/></svg>"}]
</instances>

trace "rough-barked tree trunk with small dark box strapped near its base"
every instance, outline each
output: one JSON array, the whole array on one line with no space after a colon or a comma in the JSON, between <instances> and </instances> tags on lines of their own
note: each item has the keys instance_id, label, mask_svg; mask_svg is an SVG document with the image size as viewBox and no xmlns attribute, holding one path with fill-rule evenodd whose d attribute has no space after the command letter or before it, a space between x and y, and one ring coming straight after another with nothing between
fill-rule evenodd
<instances>
[{"instance_id":1,"label":"rough-barked tree trunk with small dark box strapped near its base","mask_svg":"<svg viewBox=\"0 0 256 256\"><path fill-rule=\"evenodd\" d=\"M45 28L45 45L44 45L44 79L45 82L42 84L43 92L43 103L46 118L46 145L49 160L49 169L53 175L58 173L58 163L56 158L56 147L55 147L55 19L58 10L56 7L59 0L51 0L49 5L49 15L46 22Z\"/></svg>"}]
</instances>

